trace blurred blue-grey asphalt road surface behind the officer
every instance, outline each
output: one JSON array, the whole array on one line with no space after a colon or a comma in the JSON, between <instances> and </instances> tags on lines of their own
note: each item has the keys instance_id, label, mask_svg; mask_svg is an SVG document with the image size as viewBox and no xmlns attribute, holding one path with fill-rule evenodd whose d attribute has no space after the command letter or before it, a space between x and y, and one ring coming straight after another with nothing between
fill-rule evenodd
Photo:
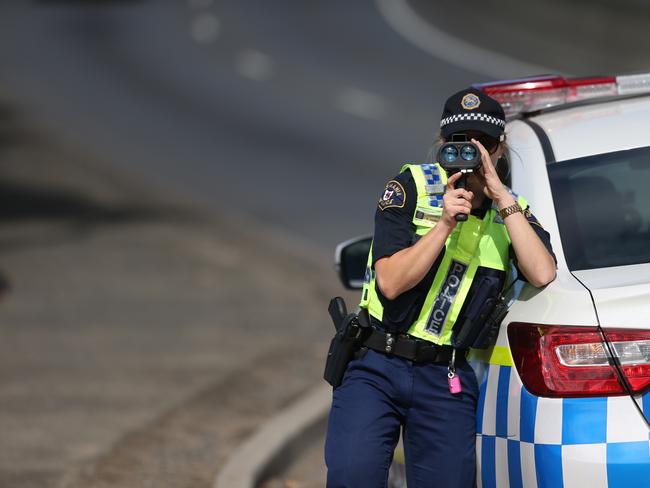
<instances>
[{"instance_id":1,"label":"blurred blue-grey asphalt road surface behind the officer","mask_svg":"<svg viewBox=\"0 0 650 488\"><path fill-rule=\"evenodd\" d=\"M371 229L445 95L480 77L432 63L372 0L4 2L0 41L0 86L59 137L328 250Z\"/></svg>"}]
</instances>

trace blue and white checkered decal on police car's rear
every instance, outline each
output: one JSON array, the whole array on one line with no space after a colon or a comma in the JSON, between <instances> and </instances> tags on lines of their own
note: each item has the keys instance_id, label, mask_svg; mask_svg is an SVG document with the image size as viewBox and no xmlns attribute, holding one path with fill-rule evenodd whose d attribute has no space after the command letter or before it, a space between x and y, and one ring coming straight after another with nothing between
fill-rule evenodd
<instances>
[{"instance_id":1,"label":"blue and white checkered decal on police car's rear","mask_svg":"<svg viewBox=\"0 0 650 488\"><path fill-rule=\"evenodd\" d=\"M536 397L512 366L482 376L479 487L650 486L650 435L629 397ZM639 401L650 414L650 393Z\"/></svg>"}]
</instances>

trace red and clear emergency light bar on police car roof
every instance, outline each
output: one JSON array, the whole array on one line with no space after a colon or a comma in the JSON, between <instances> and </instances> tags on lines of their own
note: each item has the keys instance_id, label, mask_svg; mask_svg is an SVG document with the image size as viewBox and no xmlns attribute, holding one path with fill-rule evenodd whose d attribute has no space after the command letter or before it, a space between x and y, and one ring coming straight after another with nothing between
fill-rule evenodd
<instances>
[{"instance_id":1,"label":"red and clear emergency light bar on police car roof","mask_svg":"<svg viewBox=\"0 0 650 488\"><path fill-rule=\"evenodd\" d=\"M595 97L650 92L650 74L566 79L545 75L474 85L501 103L506 117Z\"/></svg>"}]
</instances>

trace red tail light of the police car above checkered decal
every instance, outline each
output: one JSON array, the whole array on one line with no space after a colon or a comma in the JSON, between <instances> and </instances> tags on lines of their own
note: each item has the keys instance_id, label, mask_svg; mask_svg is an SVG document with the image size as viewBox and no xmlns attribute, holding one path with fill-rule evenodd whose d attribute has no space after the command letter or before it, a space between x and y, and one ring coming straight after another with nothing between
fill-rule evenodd
<instances>
[{"instance_id":1,"label":"red tail light of the police car above checkered decal","mask_svg":"<svg viewBox=\"0 0 650 488\"><path fill-rule=\"evenodd\" d=\"M633 393L650 387L650 330L605 329ZM511 323L508 339L526 389L537 396L626 394L596 327Z\"/></svg>"}]
</instances>

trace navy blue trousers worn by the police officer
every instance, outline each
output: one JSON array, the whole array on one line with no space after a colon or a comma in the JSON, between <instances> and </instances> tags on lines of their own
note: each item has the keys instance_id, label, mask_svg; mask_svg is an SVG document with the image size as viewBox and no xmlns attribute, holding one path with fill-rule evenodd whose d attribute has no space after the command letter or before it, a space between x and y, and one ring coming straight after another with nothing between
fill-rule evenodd
<instances>
[{"instance_id":1,"label":"navy blue trousers worn by the police officer","mask_svg":"<svg viewBox=\"0 0 650 488\"><path fill-rule=\"evenodd\" d=\"M401 429L409 488L474 487L478 385L466 361L456 370L452 395L445 364L372 350L351 361L329 415L328 488L385 487Z\"/></svg>"}]
</instances>

